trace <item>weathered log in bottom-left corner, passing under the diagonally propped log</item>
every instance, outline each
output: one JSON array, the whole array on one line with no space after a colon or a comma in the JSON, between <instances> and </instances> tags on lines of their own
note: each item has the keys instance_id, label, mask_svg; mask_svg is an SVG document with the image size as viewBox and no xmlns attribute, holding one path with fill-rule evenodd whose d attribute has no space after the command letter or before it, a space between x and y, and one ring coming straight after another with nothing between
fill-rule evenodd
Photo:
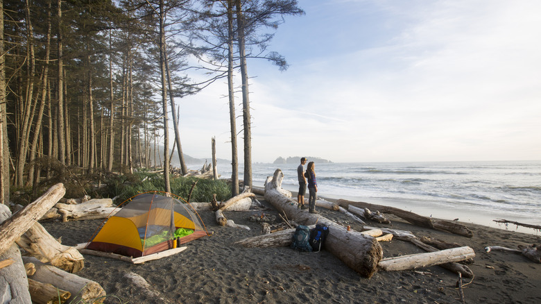
<instances>
[{"instance_id":1,"label":"weathered log in bottom-left corner, passing under the diagonally propped log","mask_svg":"<svg viewBox=\"0 0 541 304\"><path fill-rule=\"evenodd\" d=\"M11 217L10 208L0 203L0 223L9 217ZM26 270L17 244L11 243L3 253L0 253L0 261L4 260L13 262L0 269L0 303L31 303Z\"/></svg>"}]
</instances>

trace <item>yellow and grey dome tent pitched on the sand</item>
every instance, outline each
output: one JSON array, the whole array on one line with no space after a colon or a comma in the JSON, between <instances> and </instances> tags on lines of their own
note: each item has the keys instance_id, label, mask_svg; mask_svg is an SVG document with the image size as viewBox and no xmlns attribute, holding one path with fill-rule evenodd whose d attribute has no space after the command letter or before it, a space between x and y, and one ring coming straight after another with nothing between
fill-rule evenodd
<instances>
[{"instance_id":1,"label":"yellow and grey dome tent pitched on the sand","mask_svg":"<svg viewBox=\"0 0 541 304\"><path fill-rule=\"evenodd\" d=\"M171 197L138 194L105 222L86 248L142 257L204 237L207 233L188 208Z\"/></svg>"}]
</instances>

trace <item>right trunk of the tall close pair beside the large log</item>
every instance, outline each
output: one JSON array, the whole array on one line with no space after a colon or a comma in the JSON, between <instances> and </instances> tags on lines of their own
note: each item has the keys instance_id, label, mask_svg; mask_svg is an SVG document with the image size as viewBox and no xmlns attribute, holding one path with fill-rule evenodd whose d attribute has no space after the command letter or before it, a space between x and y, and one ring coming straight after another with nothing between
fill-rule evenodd
<instances>
[{"instance_id":1,"label":"right trunk of the tall close pair beside the large log","mask_svg":"<svg viewBox=\"0 0 541 304\"><path fill-rule=\"evenodd\" d=\"M244 37L244 15L241 0L237 0L237 27L239 31L239 58L242 80L242 121L244 125L244 187L252 187L252 130L250 126L250 98L248 96L248 66Z\"/></svg>"}]
</instances>

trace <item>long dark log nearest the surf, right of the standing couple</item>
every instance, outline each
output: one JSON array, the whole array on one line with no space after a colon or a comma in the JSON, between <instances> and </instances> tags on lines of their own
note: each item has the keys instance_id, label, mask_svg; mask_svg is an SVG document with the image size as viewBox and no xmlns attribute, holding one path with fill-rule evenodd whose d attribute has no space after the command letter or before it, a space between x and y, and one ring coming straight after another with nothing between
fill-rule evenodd
<instances>
[{"instance_id":1,"label":"long dark log nearest the surf, right of the standing couple","mask_svg":"<svg viewBox=\"0 0 541 304\"><path fill-rule=\"evenodd\" d=\"M371 203L364 202L354 202L347 201L345 199L339 199L337 201L338 205L341 205L343 208L347 208L349 205L354 205L357 208L368 208L370 210L377 210L381 213L390 213L395 214L397 217L405 219L413 225L426 227L436 230L442 230L449 233L454 233L456 235L462 235L463 237L473 237L472 230L468 229L466 226L456 221L446 221L443 219L433 219L431 217L423 217L422 215L405 211L400 208L384 206L384 205L375 205Z\"/></svg>"}]
</instances>

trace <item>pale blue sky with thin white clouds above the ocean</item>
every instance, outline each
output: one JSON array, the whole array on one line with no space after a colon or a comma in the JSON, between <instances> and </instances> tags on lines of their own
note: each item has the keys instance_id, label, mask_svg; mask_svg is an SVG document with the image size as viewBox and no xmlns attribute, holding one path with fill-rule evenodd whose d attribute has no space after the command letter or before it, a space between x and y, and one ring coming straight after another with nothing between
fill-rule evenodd
<instances>
[{"instance_id":1,"label":"pale blue sky with thin white clouds above the ocean","mask_svg":"<svg viewBox=\"0 0 541 304\"><path fill-rule=\"evenodd\" d=\"M541 1L298 3L268 47L289 69L248 60L252 162L541 159ZM209 158L216 137L231 159L225 94L178 101L187 155Z\"/></svg>"}]
</instances>

